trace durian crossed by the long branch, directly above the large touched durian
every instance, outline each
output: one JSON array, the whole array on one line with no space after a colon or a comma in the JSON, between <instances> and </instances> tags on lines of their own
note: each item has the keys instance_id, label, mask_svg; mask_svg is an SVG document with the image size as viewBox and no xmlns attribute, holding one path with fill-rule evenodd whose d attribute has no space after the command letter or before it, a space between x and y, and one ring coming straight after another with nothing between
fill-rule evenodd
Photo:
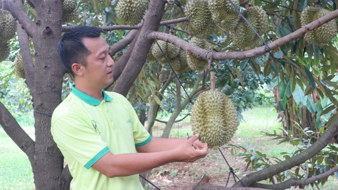
<instances>
[{"instance_id":1,"label":"durian crossed by the long branch, directly above the large touched durian","mask_svg":"<svg viewBox=\"0 0 338 190\"><path fill-rule=\"evenodd\" d=\"M207 41L196 38L196 37L192 37L190 39L190 43L195 45L195 46L198 46L200 48L203 48L205 50L211 50L212 49L212 46ZM189 67L194 71L203 70L208 65L208 61L204 56L197 57L194 54L187 55L186 61L189 65Z\"/></svg>"}]
</instances>

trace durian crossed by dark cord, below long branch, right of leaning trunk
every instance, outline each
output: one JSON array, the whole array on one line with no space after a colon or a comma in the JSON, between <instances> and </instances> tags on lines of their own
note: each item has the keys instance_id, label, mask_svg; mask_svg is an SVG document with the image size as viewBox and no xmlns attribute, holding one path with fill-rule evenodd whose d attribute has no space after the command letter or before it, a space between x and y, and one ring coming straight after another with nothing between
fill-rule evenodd
<instances>
[{"instance_id":1,"label":"durian crossed by dark cord, below long branch, right of leaning trunk","mask_svg":"<svg viewBox=\"0 0 338 190\"><path fill-rule=\"evenodd\" d=\"M157 42L159 43L162 51L164 52L164 54L166 55L169 61L178 55L179 48L177 46L167 43L165 41L161 41L161 40L158 40ZM152 53L153 53L153 56L159 61L159 63L161 63L162 65L165 65L168 62L165 56L163 55L161 49L156 43L154 43L153 48L152 48Z\"/></svg>"}]
</instances>

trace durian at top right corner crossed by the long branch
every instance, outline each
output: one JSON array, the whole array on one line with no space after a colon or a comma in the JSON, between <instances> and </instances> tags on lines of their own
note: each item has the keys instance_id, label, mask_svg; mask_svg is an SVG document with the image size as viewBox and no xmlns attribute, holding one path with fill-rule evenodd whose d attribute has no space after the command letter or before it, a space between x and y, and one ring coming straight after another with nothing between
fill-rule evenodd
<instances>
[{"instance_id":1,"label":"durian at top right corner crossed by the long branch","mask_svg":"<svg viewBox=\"0 0 338 190\"><path fill-rule=\"evenodd\" d=\"M301 15L302 27L309 24L310 22L321 18L324 15L329 14L331 11L321 7L309 6L305 8ZM336 37L337 24L336 20L331 20L328 23L323 24L319 28L316 28L305 34L304 38L306 41L315 45L325 45L331 43L332 39Z\"/></svg>"}]
</instances>

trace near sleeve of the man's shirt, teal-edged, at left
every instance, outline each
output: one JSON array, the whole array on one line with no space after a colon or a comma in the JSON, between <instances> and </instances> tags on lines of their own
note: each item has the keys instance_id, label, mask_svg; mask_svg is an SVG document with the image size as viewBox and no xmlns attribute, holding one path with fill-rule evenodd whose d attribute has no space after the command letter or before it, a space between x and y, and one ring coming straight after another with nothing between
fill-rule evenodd
<instances>
[{"instance_id":1,"label":"near sleeve of the man's shirt, teal-edged, at left","mask_svg":"<svg viewBox=\"0 0 338 190\"><path fill-rule=\"evenodd\" d=\"M107 143L94 126L95 123L73 116L62 116L52 122L51 132L58 147L67 151L86 169L109 152Z\"/></svg>"}]
</instances>

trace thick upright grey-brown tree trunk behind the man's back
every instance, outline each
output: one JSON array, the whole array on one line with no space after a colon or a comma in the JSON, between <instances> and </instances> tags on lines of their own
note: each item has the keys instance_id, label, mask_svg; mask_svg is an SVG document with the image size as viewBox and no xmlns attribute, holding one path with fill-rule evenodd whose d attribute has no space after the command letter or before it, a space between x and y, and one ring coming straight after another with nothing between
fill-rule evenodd
<instances>
[{"instance_id":1,"label":"thick upright grey-brown tree trunk behind the man's back","mask_svg":"<svg viewBox=\"0 0 338 190\"><path fill-rule=\"evenodd\" d=\"M57 46L61 39L62 1L40 1L40 3L35 3L35 8L38 14L33 33L34 108L52 114L61 103L64 75L64 68L57 54ZM35 188L36 190L61 189L64 157L50 132L51 116L34 112L34 118L36 140L32 166Z\"/></svg>"}]
</instances>

